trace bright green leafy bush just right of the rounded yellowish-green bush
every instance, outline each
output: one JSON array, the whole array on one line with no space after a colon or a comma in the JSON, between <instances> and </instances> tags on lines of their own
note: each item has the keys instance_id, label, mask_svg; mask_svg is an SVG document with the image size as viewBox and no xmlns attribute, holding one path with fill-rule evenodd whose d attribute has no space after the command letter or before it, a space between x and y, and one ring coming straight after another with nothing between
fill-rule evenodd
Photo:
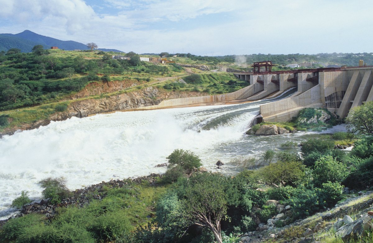
<instances>
[{"instance_id":1,"label":"bright green leafy bush just right of the rounded yellowish-green bush","mask_svg":"<svg viewBox=\"0 0 373 243\"><path fill-rule=\"evenodd\" d=\"M326 182L342 182L347 175L347 166L331 155L325 155L317 160L313 170L314 183L317 186L322 186Z\"/></svg>"}]
</instances>

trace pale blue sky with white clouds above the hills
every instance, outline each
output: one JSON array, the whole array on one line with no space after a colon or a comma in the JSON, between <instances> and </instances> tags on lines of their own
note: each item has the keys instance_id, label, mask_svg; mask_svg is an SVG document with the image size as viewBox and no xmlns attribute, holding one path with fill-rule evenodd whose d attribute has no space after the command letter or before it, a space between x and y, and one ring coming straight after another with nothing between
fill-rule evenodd
<instances>
[{"instance_id":1,"label":"pale blue sky with white clouds above the hills","mask_svg":"<svg viewBox=\"0 0 373 243\"><path fill-rule=\"evenodd\" d=\"M0 0L0 6L0 33L28 29L125 52L373 52L372 0Z\"/></svg>"}]
</instances>

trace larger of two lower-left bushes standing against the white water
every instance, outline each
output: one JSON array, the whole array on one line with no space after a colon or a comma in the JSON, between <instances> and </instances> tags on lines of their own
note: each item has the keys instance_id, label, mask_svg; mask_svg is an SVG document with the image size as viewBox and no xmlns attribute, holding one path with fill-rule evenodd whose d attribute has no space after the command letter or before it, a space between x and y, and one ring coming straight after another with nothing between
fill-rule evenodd
<instances>
[{"instance_id":1,"label":"larger of two lower-left bushes standing against the white water","mask_svg":"<svg viewBox=\"0 0 373 243\"><path fill-rule=\"evenodd\" d=\"M71 193L65 186L65 179L59 178L47 178L39 182L40 186L44 188L42 194L44 198L50 200L51 203L60 203L62 199L68 198Z\"/></svg>"}]
</instances>

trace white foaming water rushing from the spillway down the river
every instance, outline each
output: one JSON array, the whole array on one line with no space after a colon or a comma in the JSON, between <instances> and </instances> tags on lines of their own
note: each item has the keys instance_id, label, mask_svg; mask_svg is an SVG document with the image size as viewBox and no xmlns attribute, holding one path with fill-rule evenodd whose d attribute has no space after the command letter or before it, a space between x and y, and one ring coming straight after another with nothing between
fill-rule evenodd
<instances>
[{"instance_id":1,"label":"white foaming water rushing from the spillway down the river","mask_svg":"<svg viewBox=\"0 0 373 243\"><path fill-rule=\"evenodd\" d=\"M273 99L278 100L293 91ZM154 166L166 162L174 149L190 149L208 170L217 160L260 155L283 142L301 141L299 134L247 136L259 104L273 100L207 107L116 112L86 118L52 121L48 126L0 139L0 218L22 190L40 199L37 182L63 176L69 189L110 179L163 173Z\"/></svg>"}]
</instances>

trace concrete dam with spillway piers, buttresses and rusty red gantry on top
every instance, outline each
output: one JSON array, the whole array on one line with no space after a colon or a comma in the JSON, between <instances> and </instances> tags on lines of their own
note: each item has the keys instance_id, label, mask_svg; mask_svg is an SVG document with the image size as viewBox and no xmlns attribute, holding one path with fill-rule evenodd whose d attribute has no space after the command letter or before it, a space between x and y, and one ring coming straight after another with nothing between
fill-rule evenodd
<instances>
[{"instance_id":1,"label":"concrete dam with spillway piers, buttresses and rusty red gantry on top","mask_svg":"<svg viewBox=\"0 0 373 243\"><path fill-rule=\"evenodd\" d=\"M242 80L250 80L252 93L246 100L276 97L292 87L298 91L291 97L263 104L260 114L265 121L289 121L307 107L327 108L340 118L367 101L373 101L373 66L298 69L272 72L269 61L254 63L254 72L235 73Z\"/></svg>"}]
</instances>

